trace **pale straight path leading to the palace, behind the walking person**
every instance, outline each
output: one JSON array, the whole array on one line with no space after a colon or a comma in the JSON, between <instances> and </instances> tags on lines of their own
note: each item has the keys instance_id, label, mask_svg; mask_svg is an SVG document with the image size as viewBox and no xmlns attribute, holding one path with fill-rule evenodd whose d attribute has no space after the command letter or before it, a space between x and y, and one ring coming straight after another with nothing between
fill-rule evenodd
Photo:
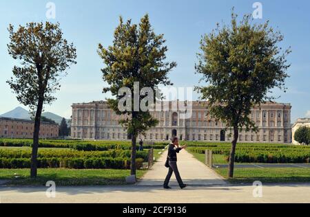
<instances>
[{"instance_id":1,"label":"pale straight path leading to the palace, behind the walking person","mask_svg":"<svg viewBox=\"0 0 310 217\"><path fill-rule=\"evenodd\" d=\"M156 150L155 150L156 151ZM165 168L167 158L167 150L158 159L158 162L153 165L143 179L137 183L138 186L163 186L168 169ZM189 154L186 150L180 151L178 154L178 170L183 179L183 183L191 186L210 186L210 185L225 185L226 182L216 174L207 165L201 163ZM176 177L172 175L169 184L171 187L178 186Z\"/></svg>"}]
</instances>

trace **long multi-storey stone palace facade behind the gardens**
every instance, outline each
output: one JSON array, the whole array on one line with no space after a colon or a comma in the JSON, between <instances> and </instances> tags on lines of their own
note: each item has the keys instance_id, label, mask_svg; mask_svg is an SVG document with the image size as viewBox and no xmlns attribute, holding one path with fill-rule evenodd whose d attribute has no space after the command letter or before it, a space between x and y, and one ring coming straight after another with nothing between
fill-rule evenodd
<instances>
[{"instance_id":1,"label":"long multi-storey stone palace facade behind the gardens","mask_svg":"<svg viewBox=\"0 0 310 217\"><path fill-rule=\"evenodd\" d=\"M187 141L231 141L231 131L222 122L210 117L205 102L192 102L192 117L184 117L184 110L169 109L152 111L158 119L158 126L140 135L138 139L147 141L167 141L173 136ZM184 102L183 102L184 103ZM163 107L163 105L162 105ZM183 115L182 115L183 114ZM125 115L116 115L107 102L90 102L72 105L71 137L74 139L127 140L125 128L118 120ZM258 126L258 133L240 131L240 142L291 143L291 104L267 103L254 107L251 119Z\"/></svg>"}]
</instances>

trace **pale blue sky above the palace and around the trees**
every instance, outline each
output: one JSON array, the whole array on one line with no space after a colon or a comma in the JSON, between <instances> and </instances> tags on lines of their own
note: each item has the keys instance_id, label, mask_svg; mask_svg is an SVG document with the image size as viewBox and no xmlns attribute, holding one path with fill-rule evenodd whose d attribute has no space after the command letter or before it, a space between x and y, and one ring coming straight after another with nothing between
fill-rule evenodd
<instances>
[{"instance_id":1,"label":"pale blue sky above the palace and around the trees","mask_svg":"<svg viewBox=\"0 0 310 217\"><path fill-rule=\"evenodd\" d=\"M4 3L5 2L5 3ZM0 7L0 114L20 106L14 93L6 84L12 76L14 62L8 55L7 27L25 25L32 21L47 21L46 3L42 0L1 1ZM61 0L52 1L56 5L56 19L48 20L61 23L65 38L73 42L77 49L77 65L61 80L61 91L56 93L58 100L52 106L45 106L64 117L70 117L71 104L104 100L108 95L101 93L105 83L101 79L102 60L96 53L99 43L105 47L112 43L112 36L118 16L132 19L138 23L148 13L157 34L165 34L169 52L168 60L174 60L178 67L169 77L176 87L193 87L199 76L194 74L201 35L209 33L216 23L229 23L231 8L239 15L254 11L255 1L248 0ZM280 97L278 102L291 103L292 121L298 117L310 117L310 1L262 1L263 19L285 35L282 47L291 46L291 63L286 86L287 93L274 91ZM194 94L194 99L198 95ZM25 108L27 109L27 108Z\"/></svg>"}]
</instances>

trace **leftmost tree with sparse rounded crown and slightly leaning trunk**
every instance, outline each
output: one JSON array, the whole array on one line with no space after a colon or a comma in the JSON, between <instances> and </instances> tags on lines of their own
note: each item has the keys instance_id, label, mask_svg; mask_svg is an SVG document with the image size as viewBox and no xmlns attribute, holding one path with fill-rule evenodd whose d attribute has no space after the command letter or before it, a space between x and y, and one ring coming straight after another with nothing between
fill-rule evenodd
<instances>
[{"instance_id":1,"label":"leftmost tree with sparse rounded crown and slightly leaning trunk","mask_svg":"<svg viewBox=\"0 0 310 217\"><path fill-rule=\"evenodd\" d=\"M41 113L44 104L52 104L56 98L52 93L60 89L59 80L66 69L76 64L76 49L63 38L59 23L28 23L8 27L10 43L8 52L20 66L14 66L14 78L8 80L17 100L35 114L31 157L32 178L37 176L37 153Z\"/></svg>"}]
</instances>

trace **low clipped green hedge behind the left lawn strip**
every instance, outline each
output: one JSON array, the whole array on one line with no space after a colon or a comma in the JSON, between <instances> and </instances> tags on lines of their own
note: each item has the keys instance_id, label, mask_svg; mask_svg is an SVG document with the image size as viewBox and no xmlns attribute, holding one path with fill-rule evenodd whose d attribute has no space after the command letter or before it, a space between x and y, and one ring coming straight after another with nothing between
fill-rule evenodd
<instances>
[{"instance_id":1,"label":"low clipped green hedge behind the left lawn strip","mask_svg":"<svg viewBox=\"0 0 310 217\"><path fill-rule=\"evenodd\" d=\"M136 153L138 166L147 161L147 150ZM78 151L70 149L39 149L39 168L128 169L130 150ZM0 168L30 168L31 150L0 149Z\"/></svg>"}]
</instances>

